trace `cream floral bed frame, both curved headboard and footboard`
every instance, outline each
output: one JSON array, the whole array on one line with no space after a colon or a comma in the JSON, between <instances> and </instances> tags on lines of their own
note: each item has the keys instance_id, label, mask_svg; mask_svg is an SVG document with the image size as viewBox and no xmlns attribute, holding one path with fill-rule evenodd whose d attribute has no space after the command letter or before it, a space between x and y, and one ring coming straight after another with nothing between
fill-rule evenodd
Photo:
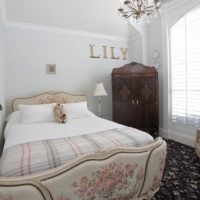
<instances>
[{"instance_id":1,"label":"cream floral bed frame, both curved headboard and footboard","mask_svg":"<svg viewBox=\"0 0 200 200\"><path fill-rule=\"evenodd\" d=\"M43 93L13 101L19 104L87 101L84 95ZM25 177L0 177L0 200L151 199L159 190L166 142L158 137L140 148L114 148Z\"/></svg>"}]
</instances>

